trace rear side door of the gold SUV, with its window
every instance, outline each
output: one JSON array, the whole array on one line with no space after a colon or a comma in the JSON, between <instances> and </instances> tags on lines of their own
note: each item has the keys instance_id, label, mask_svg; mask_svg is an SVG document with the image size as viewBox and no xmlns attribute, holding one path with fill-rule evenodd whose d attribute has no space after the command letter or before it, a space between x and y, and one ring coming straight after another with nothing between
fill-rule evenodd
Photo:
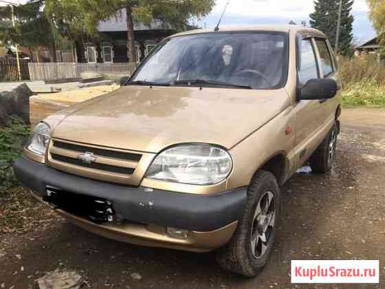
<instances>
[{"instance_id":1,"label":"rear side door of the gold SUV, with its window","mask_svg":"<svg viewBox=\"0 0 385 289\"><path fill-rule=\"evenodd\" d=\"M338 68L336 62L334 61L329 41L327 39L316 38L314 39L314 42L316 43L318 63L320 66L320 77L332 78L340 87ZM339 94L340 92L338 92L338 95ZM330 122L331 118L334 118L336 114L336 107L338 106L338 95L335 98L320 101L320 113L322 114L322 120L324 122Z\"/></svg>"}]
</instances>

